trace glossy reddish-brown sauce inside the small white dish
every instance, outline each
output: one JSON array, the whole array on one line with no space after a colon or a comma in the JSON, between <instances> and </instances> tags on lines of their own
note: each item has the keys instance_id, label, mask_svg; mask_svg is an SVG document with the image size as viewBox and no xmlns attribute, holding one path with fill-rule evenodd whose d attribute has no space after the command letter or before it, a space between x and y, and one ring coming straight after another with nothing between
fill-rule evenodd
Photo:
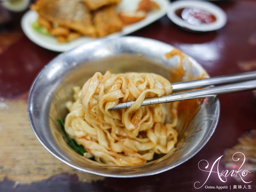
<instances>
[{"instance_id":1,"label":"glossy reddish-brown sauce inside the small white dish","mask_svg":"<svg viewBox=\"0 0 256 192\"><path fill-rule=\"evenodd\" d=\"M175 11L175 14L194 25L210 24L216 21L215 15L198 7L185 7Z\"/></svg>"}]
</instances>

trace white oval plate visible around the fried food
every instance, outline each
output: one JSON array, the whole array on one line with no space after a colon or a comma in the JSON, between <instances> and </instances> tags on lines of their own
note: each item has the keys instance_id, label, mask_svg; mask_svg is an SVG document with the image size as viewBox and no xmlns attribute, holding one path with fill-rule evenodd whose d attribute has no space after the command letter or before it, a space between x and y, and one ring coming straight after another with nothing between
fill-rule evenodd
<instances>
[{"instance_id":1,"label":"white oval plate visible around the fried food","mask_svg":"<svg viewBox=\"0 0 256 192\"><path fill-rule=\"evenodd\" d=\"M122 0L121 4L118 5L119 11L134 11L138 5L140 0ZM112 33L104 38L115 38L119 36L124 36L129 33L132 33L140 28L147 26L148 24L158 20L166 14L168 8L168 0L154 0L160 7L159 10L151 11L148 13L148 16L132 25L126 26L122 31ZM24 31L25 35L37 45L44 47L46 49L57 51L57 52L65 52L72 48L75 48L78 45L84 44L86 42L95 40L95 38L91 37L80 37L74 41L68 43L58 43L55 37L46 36L41 33L38 33L36 30L32 28L32 24L37 20L37 12L29 10L26 12L21 19L21 28Z\"/></svg>"}]
</instances>

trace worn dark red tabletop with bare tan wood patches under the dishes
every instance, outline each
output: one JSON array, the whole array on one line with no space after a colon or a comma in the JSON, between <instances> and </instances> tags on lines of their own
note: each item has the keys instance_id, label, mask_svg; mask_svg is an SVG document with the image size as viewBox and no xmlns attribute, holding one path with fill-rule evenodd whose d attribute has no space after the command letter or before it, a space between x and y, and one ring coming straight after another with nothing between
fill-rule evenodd
<instances>
[{"instance_id":1,"label":"worn dark red tabletop with bare tan wood patches under the dishes","mask_svg":"<svg viewBox=\"0 0 256 192\"><path fill-rule=\"evenodd\" d=\"M226 26L217 31L186 32L164 16L131 35L179 48L195 58L210 76L256 70L256 1L225 0L215 4L228 16ZM170 171L140 178L106 178L78 172L57 160L39 143L30 127L27 97L37 73L59 53L31 42L20 28L21 14L14 16L12 22L0 25L1 192L218 191L217 187L222 187L220 191L256 191L256 94L252 91L220 96L220 120L212 138L194 157ZM198 167L204 159L210 170L214 161L224 155L219 171L239 171L240 165L236 169L230 167L236 152L242 152L246 161L236 175L227 175L226 182L217 173L207 180L209 172ZM243 176L244 170L251 173ZM197 189L197 181L206 183Z\"/></svg>"}]
</instances>

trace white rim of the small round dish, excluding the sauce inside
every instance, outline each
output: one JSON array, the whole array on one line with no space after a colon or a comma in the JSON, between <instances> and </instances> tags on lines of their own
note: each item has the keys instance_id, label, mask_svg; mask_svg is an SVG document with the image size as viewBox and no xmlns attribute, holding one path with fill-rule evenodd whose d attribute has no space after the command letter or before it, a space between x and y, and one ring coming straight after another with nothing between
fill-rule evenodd
<instances>
[{"instance_id":1,"label":"white rim of the small round dish, excluding the sauce inside","mask_svg":"<svg viewBox=\"0 0 256 192\"><path fill-rule=\"evenodd\" d=\"M179 16L175 14L175 11L178 9L182 9L185 7L198 7L202 10L205 10L216 17L216 21L203 25L194 25L186 22ZM181 0L175 1L171 3L168 7L167 16L173 23L176 25L189 29L192 31L214 31L224 27L227 23L227 15L226 13L217 5L207 2L207 1L189 1L189 0Z\"/></svg>"}]
</instances>

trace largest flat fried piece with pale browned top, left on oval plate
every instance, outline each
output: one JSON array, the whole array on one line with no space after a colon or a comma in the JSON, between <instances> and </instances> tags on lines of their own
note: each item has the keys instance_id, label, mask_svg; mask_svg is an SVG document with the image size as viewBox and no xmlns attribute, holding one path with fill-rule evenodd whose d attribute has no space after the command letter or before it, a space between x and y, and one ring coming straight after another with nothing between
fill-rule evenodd
<instances>
[{"instance_id":1,"label":"largest flat fried piece with pale browned top, left on oval plate","mask_svg":"<svg viewBox=\"0 0 256 192\"><path fill-rule=\"evenodd\" d=\"M90 10L81 0L39 0L32 6L39 15L83 35L96 36Z\"/></svg>"}]
</instances>

